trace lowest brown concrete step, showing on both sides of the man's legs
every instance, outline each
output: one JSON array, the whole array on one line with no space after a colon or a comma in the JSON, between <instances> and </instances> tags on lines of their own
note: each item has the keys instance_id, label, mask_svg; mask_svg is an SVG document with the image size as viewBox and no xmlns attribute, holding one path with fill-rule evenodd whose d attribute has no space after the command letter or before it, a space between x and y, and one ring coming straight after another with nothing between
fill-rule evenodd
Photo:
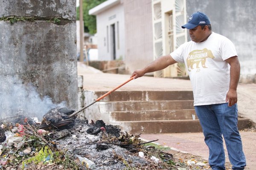
<instances>
[{"instance_id":1,"label":"lowest brown concrete step, showing on both sides of the man's legs","mask_svg":"<svg viewBox=\"0 0 256 170\"><path fill-rule=\"evenodd\" d=\"M250 127L250 119L238 119L238 128ZM122 131L136 133L186 133L202 132L199 120L162 120L162 121L132 121L119 122Z\"/></svg>"}]
</instances>

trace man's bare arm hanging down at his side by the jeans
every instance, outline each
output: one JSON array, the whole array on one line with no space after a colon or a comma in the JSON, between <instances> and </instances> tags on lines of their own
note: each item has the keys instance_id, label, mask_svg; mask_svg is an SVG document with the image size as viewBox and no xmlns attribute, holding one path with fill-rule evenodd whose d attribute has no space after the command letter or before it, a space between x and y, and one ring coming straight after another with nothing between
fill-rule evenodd
<instances>
[{"instance_id":1,"label":"man's bare arm hanging down at his side by the jeans","mask_svg":"<svg viewBox=\"0 0 256 170\"><path fill-rule=\"evenodd\" d=\"M225 61L230 65L230 88L227 92L226 102L228 102L228 106L231 107L237 102L236 88L240 77L240 63L237 56L230 57Z\"/></svg>"}]
</instances>

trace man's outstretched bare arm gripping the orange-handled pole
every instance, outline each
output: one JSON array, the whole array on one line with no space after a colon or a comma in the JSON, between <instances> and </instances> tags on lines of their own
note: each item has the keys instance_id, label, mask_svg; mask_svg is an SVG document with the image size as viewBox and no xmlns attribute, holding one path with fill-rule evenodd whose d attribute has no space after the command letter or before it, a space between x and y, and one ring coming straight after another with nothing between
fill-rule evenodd
<instances>
[{"instance_id":1,"label":"man's outstretched bare arm gripping the orange-handled pole","mask_svg":"<svg viewBox=\"0 0 256 170\"><path fill-rule=\"evenodd\" d=\"M159 57L158 59L154 60L150 64L146 65L145 68L135 70L133 74L131 74L131 77L135 76L134 79L137 79L138 77L142 77L146 73L159 71L164 68L166 68L169 65L172 65L176 63L172 56L170 54Z\"/></svg>"}]
</instances>

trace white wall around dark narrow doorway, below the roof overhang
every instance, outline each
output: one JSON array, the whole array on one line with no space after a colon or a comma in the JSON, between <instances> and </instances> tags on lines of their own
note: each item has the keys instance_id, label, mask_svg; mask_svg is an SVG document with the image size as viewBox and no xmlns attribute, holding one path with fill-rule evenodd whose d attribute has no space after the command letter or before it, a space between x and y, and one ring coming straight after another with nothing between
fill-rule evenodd
<instances>
[{"instance_id":1,"label":"white wall around dark narrow doorway, below the roof overhang","mask_svg":"<svg viewBox=\"0 0 256 170\"><path fill-rule=\"evenodd\" d=\"M111 25L115 25L116 59L125 58L125 24L123 4L119 3L96 15L99 60L113 60ZM108 28L107 28L108 27Z\"/></svg>"}]
</instances>

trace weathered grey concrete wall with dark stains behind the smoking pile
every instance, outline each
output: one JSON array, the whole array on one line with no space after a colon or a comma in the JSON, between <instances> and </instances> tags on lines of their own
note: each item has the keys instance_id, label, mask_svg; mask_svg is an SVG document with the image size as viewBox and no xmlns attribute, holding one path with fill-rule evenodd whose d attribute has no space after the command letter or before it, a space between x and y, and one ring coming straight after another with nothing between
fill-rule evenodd
<instances>
[{"instance_id":1,"label":"weathered grey concrete wall with dark stains behind the smoking pile","mask_svg":"<svg viewBox=\"0 0 256 170\"><path fill-rule=\"evenodd\" d=\"M0 114L76 109L76 2L0 0L0 30Z\"/></svg>"}]
</instances>

